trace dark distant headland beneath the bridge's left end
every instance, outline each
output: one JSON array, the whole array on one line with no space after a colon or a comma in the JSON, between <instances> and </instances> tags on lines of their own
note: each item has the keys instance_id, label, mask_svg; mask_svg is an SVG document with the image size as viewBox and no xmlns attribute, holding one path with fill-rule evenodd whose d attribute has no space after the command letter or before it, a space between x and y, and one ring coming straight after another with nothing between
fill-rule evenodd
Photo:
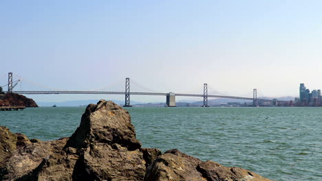
<instances>
[{"instance_id":1,"label":"dark distant headland beneath the bridge's left end","mask_svg":"<svg viewBox=\"0 0 322 181\"><path fill-rule=\"evenodd\" d=\"M38 107L34 100L16 93L0 95L0 106Z\"/></svg>"}]
</instances>

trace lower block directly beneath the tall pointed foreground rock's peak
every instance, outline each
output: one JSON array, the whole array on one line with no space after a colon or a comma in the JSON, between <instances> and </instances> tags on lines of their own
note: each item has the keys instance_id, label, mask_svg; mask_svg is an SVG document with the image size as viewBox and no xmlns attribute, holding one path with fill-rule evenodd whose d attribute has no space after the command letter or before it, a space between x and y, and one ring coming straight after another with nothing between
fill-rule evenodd
<instances>
[{"instance_id":1,"label":"lower block directly beneath the tall pointed foreground rock's peak","mask_svg":"<svg viewBox=\"0 0 322 181\"><path fill-rule=\"evenodd\" d=\"M140 149L104 143L89 147L77 162L75 180L143 180L146 167Z\"/></svg>"}]
</instances>

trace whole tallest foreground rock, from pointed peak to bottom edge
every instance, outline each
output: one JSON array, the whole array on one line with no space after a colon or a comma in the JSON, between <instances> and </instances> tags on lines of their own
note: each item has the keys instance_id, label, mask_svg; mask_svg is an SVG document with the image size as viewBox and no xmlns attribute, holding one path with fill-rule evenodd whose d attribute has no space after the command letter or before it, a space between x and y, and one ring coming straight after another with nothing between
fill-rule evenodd
<instances>
[{"instance_id":1,"label":"whole tallest foreground rock, from pointed peak to bottom edge","mask_svg":"<svg viewBox=\"0 0 322 181\"><path fill-rule=\"evenodd\" d=\"M43 160L28 179L143 180L140 146L129 112L100 100L87 106L63 151Z\"/></svg>"}]
</instances>

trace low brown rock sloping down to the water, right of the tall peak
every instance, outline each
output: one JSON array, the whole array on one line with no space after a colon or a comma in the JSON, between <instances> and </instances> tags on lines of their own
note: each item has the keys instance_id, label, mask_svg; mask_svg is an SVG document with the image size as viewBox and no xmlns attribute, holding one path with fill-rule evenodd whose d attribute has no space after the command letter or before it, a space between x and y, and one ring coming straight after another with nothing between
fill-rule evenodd
<instances>
[{"instance_id":1,"label":"low brown rock sloping down to the water, right of the tall peak","mask_svg":"<svg viewBox=\"0 0 322 181\"><path fill-rule=\"evenodd\" d=\"M256 173L238 167L224 167L213 161L203 162L171 149L147 168L144 181L207 180L207 181L268 181Z\"/></svg>"}]
</instances>

